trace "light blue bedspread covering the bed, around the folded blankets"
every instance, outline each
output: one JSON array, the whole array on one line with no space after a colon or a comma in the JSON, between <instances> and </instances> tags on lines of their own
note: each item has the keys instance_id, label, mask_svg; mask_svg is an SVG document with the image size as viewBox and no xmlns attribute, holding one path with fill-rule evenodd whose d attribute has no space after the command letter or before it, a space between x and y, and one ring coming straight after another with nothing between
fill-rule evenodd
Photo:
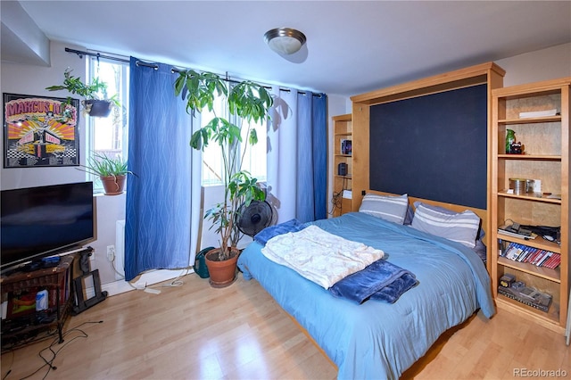
<instances>
[{"instance_id":1,"label":"light blue bedspread covering the bed, around the folded blankets","mask_svg":"<svg viewBox=\"0 0 571 380\"><path fill-rule=\"evenodd\" d=\"M444 331L476 310L487 318L495 312L483 260L465 244L363 211L311 224L382 250L384 260L418 279L397 302L357 303L269 260L257 241L242 252L244 278L257 280L306 330L335 363L339 379L397 379Z\"/></svg>"}]
</instances>

